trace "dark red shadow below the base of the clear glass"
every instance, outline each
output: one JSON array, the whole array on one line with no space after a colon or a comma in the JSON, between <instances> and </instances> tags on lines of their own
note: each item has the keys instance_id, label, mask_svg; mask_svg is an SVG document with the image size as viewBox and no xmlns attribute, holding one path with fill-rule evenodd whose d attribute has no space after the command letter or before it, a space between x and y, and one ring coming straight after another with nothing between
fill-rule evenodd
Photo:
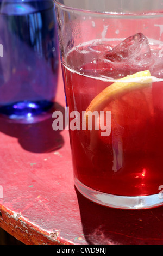
<instances>
[{"instance_id":1,"label":"dark red shadow below the base of the clear glass","mask_svg":"<svg viewBox=\"0 0 163 256\"><path fill-rule=\"evenodd\" d=\"M76 193L88 245L163 245L163 206L146 210L107 208Z\"/></svg>"}]
</instances>

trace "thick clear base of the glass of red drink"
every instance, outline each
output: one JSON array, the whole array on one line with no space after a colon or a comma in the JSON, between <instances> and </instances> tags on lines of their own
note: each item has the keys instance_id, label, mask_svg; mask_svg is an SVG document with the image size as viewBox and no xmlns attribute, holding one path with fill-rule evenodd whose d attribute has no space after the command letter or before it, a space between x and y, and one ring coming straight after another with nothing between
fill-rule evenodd
<instances>
[{"instance_id":1,"label":"thick clear base of the glass of red drink","mask_svg":"<svg viewBox=\"0 0 163 256\"><path fill-rule=\"evenodd\" d=\"M75 186L80 193L91 201L118 209L148 209L163 205L163 197L160 194L152 194L149 196L116 196L100 191L93 190L85 186L77 178L75 178Z\"/></svg>"}]
</instances>

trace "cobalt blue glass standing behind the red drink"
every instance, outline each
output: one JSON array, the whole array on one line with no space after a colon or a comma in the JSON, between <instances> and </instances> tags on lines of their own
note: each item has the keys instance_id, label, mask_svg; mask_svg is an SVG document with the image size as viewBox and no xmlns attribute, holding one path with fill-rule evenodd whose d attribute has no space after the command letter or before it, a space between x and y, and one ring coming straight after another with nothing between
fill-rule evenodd
<instances>
[{"instance_id":1,"label":"cobalt blue glass standing behind the red drink","mask_svg":"<svg viewBox=\"0 0 163 256\"><path fill-rule=\"evenodd\" d=\"M53 0L0 0L0 115L28 123L49 116L58 79Z\"/></svg>"}]
</instances>

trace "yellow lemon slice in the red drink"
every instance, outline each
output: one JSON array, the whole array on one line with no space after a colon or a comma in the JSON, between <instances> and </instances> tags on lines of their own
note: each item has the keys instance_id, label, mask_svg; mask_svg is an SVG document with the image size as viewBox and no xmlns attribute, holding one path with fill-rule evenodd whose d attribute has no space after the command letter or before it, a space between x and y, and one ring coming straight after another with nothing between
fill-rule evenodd
<instances>
[{"instance_id":1,"label":"yellow lemon slice in the red drink","mask_svg":"<svg viewBox=\"0 0 163 256\"><path fill-rule=\"evenodd\" d=\"M133 78L139 78L137 81L139 82L123 82L124 80L133 80ZM111 84L106 87L101 93L99 93L87 107L84 113L84 120L89 117L90 112L100 111L104 109L106 105L108 105L109 101L117 99L117 96L120 94L125 94L131 90L141 89L148 87L152 83L152 77L149 70L140 71L133 75L129 75L121 78L118 82Z\"/></svg>"}]
</instances>

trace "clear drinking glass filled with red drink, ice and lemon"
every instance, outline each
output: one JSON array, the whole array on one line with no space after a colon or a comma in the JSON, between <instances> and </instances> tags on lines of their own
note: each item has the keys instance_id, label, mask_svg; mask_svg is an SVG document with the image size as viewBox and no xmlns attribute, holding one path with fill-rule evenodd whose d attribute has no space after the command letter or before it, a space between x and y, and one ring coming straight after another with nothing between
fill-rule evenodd
<instances>
[{"instance_id":1,"label":"clear drinking glass filled with red drink, ice and lemon","mask_svg":"<svg viewBox=\"0 0 163 256\"><path fill-rule=\"evenodd\" d=\"M112 208L162 205L162 1L54 3L77 189Z\"/></svg>"}]
</instances>

